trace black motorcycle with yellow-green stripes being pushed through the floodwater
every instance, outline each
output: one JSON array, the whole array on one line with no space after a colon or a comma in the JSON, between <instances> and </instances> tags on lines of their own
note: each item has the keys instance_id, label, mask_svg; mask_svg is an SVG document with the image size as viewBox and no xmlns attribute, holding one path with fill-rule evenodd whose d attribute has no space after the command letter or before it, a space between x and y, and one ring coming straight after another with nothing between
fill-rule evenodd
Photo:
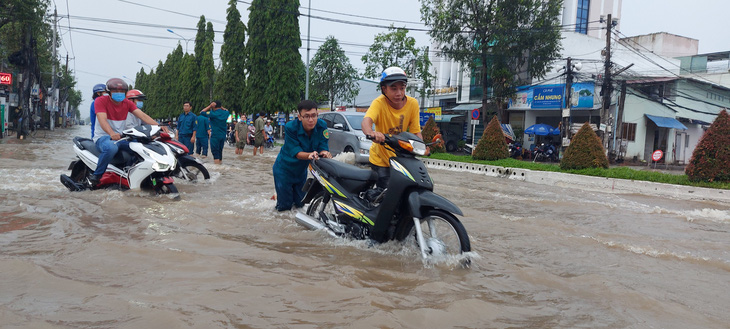
<instances>
[{"instance_id":1,"label":"black motorcycle with yellow-green stripes being pushed through the floodwater","mask_svg":"<svg viewBox=\"0 0 730 329\"><path fill-rule=\"evenodd\" d=\"M455 216L463 213L433 192L426 166L416 158L426 153L426 144L408 132L385 136L382 144L396 154L390 158L387 189L374 188L378 177L370 169L314 159L302 201L309 205L306 213L297 213L296 222L335 237L415 243L424 261L471 251ZM468 265L468 258L463 262Z\"/></svg>"}]
</instances>

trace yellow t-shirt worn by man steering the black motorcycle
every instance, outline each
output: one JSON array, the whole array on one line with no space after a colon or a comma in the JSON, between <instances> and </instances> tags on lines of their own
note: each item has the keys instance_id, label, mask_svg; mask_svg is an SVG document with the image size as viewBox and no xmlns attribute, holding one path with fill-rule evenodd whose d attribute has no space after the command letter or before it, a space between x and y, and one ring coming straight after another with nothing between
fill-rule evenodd
<instances>
[{"instance_id":1,"label":"yellow t-shirt worn by man steering the black motorcycle","mask_svg":"<svg viewBox=\"0 0 730 329\"><path fill-rule=\"evenodd\" d=\"M373 100L365 117L373 119L375 131L393 135L403 131L413 134L421 132L418 101L413 97L406 96L406 98L406 105L399 110L388 105L388 100L384 95ZM388 151L379 143L373 143L373 146L370 147L370 163L376 166L390 167L388 159L393 156L395 153Z\"/></svg>"}]
</instances>

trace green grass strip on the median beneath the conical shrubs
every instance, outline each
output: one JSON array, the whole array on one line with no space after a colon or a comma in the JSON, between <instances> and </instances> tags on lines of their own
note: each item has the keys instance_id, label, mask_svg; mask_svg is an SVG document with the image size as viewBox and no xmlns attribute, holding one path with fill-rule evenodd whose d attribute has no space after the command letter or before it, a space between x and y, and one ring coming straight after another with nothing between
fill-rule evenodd
<instances>
[{"instance_id":1,"label":"green grass strip on the median beneath the conical shrubs","mask_svg":"<svg viewBox=\"0 0 730 329\"><path fill-rule=\"evenodd\" d=\"M596 177L607 177L607 178L620 178L630 179L637 181L647 181L655 183L666 183L676 185L687 185L697 187L709 187L717 189L730 190L730 183L725 182L690 182L687 175L675 175L665 174L655 171L647 170L636 170L628 167L616 166L609 169L603 168L591 168L591 169L580 169L580 170L562 170L558 164L550 163L539 163L530 161L521 161L512 158L501 159L496 161L484 161L474 160L469 155L453 155L449 153L435 153L430 156L431 159L447 160L464 163L477 163L491 166L507 167L507 168L521 168L529 170L539 171L554 171L563 172L568 174L596 176Z\"/></svg>"}]
</instances>

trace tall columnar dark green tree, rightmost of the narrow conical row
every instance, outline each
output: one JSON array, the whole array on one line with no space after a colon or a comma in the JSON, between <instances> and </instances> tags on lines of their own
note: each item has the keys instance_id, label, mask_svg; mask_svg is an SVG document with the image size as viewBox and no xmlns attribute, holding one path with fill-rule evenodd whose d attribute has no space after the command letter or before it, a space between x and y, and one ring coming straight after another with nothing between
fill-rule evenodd
<instances>
[{"instance_id":1,"label":"tall columnar dark green tree, rightmost of the narrow conical row","mask_svg":"<svg viewBox=\"0 0 730 329\"><path fill-rule=\"evenodd\" d=\"M299 79L302 67L302 46L299 32L299 0L269 0L270 24L266 26L268 45L268 89L266 108L257 112L291 112L301 100Z\"/></svg>"}]
</instances>

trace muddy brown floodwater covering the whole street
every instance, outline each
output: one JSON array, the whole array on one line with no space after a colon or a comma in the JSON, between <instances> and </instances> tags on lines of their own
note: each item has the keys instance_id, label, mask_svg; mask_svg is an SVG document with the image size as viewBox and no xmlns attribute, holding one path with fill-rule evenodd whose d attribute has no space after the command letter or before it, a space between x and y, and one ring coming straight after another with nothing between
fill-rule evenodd
<instances>
[{"instance_id":1,"label":"muddy brown floodwater covering the whole street","mask_svg":"<svg viewBox=\"0 0 730 329\"><path fill-rule=\"evenodd\" d=\"M472 266L331 238L277 213L271 166L70 193L87 127L0 140L2 328L728 328L730 206L431 170ZM45 135L45 136L44 136Z\"/></svg>"}]
</instances>

